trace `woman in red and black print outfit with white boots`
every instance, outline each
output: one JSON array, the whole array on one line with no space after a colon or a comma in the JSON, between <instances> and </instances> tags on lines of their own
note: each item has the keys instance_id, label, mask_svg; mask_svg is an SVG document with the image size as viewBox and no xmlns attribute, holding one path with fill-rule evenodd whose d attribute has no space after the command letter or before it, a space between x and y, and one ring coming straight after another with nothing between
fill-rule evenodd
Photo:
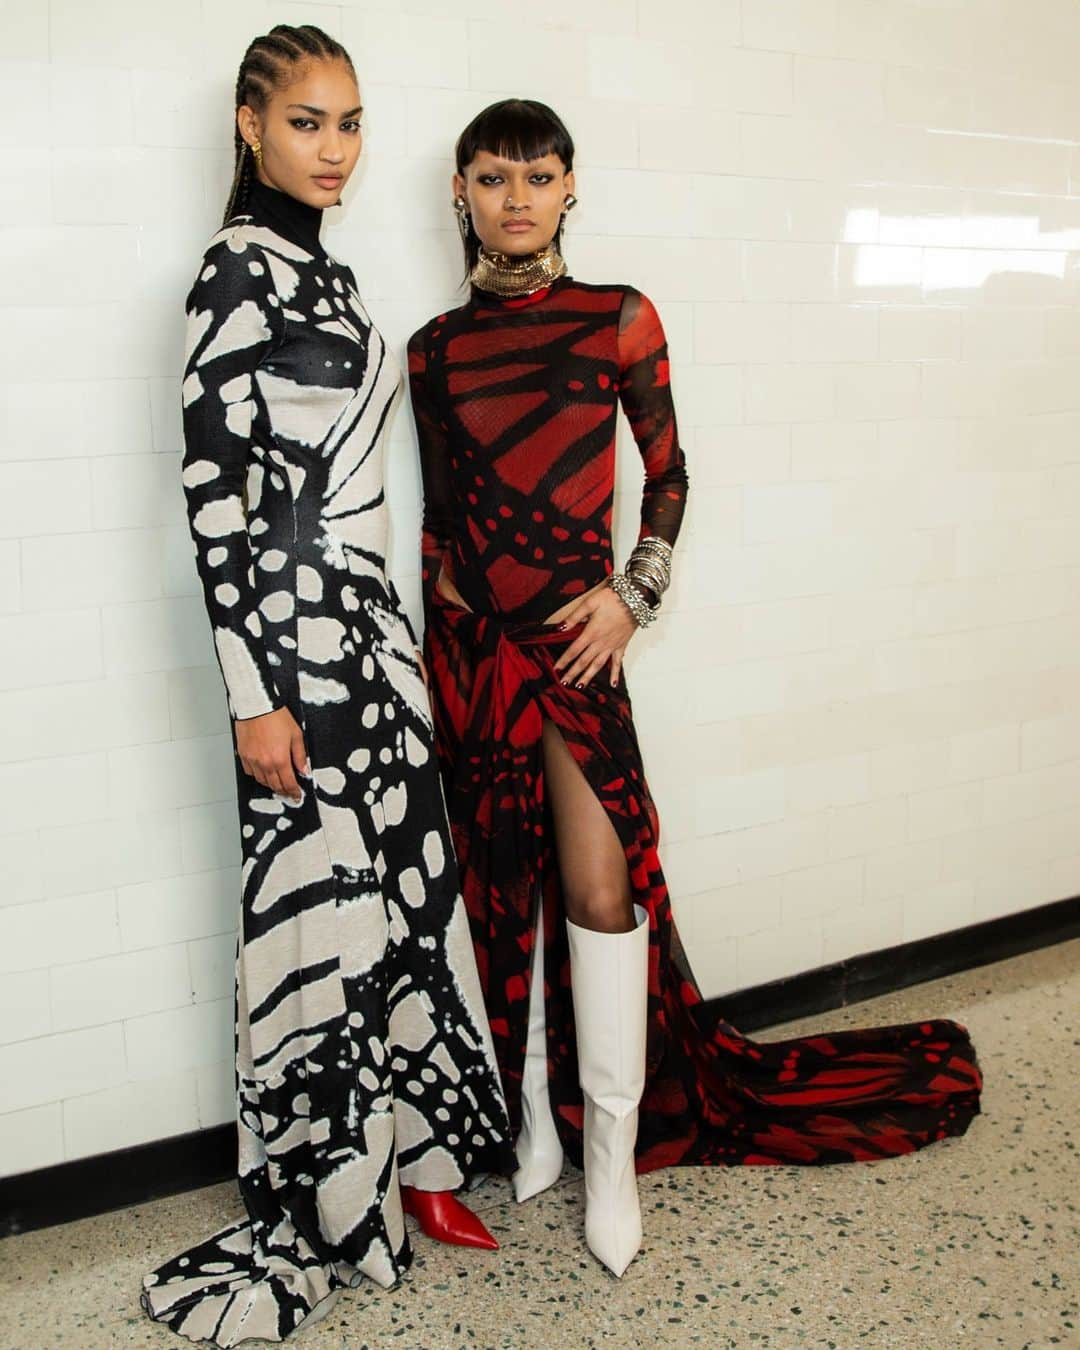
<instances>
[{"instance_id":1,"label":"woman in red and black print outfit with white boots","mask_svg":"<svg viewBox=\"0 0 1080 1350\"><path fill-rule=\"evenodd\" d=\"M656 309L566 271L572 159L531 100L464 130L470 298L413 335L409 373L436 744L514 1188L551 1185L566 1152L589 1246L621 1274L641 1238L634 1170L907 1153L961 1134L981 1079L954 1022L765 1044L702 1002L622 675L667 589L687 475ZM620 405L645 485L616 571Z\"/></svg>"}]
</instances>

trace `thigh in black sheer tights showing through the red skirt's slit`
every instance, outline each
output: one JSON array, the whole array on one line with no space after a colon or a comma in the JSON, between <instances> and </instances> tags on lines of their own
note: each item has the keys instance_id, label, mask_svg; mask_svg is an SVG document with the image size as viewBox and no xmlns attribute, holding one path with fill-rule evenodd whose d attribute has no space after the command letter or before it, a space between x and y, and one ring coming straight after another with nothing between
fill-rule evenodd
<instances>
[{"instance_id":1,"label":"thigh in black sheer tights showing through the red skirt's slit","mask_svg":"<svg viewBox=\"0 0 1080 1350\"><path fill-rule=\"evenodd\" d=\"M597 933L632 932L630 878L622 844L562 732L547 718L544 783L555 824L566 917Z\"/></svg>"}]
</instances>

